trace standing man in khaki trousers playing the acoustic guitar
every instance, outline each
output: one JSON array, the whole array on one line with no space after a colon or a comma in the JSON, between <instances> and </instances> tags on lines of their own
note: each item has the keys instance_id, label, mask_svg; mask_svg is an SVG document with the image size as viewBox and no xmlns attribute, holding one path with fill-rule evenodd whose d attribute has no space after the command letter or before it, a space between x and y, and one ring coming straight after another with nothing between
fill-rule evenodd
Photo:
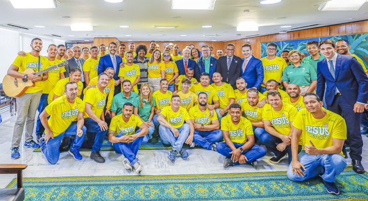
<instances>
[{"instance_id":1,"label":"standing man in khaki trousers playing the acoustic guitar","mask_svg":"<svg viewBox=\"0 0 368 201\"><path fill-rule=\"evenodd\" d=\"M32 133L35 125L37 107L42 95L41 81L47 80L48 73L46 72L41 76L35 76L33 73L26 75L22 72L24 72L27 68L31 68L35 72L40 72L48 66L48 60L46 57L40 56L42 49L41 39L32 39L30 47L32 48L31 52L26 53L24 57L18 56L10 65L7 72L7 75L13 78L22 78L35 82L34 87L28 88L23 95L17 98L18 117L14 125L13 140L11 145L12 159L20 158L19 146L24 124L26 126L24 147L30 147L32 149L40 147L40 144L37 144L35 141L33 141Z\"/></svg>"}]
</instances>

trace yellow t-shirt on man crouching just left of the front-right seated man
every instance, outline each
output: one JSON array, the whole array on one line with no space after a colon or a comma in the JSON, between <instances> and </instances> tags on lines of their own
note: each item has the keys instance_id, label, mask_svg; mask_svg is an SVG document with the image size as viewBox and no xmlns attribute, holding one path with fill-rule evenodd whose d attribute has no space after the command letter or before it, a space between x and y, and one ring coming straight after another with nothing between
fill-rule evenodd
<instances>
[{"instance_id":1,"label":"yellow t-shirt on man crouching just left of the front-right seated man","mask_svg":"<svg viewBox=\"0 0 368 201\"><path fill-rule=\"evenodd\" d=\"M262 119L271 122L272 127L282 135L288 136L291 130L290 121L294 121L298 113L292 105L283 103L280 111L275 111L271 105L264 106Z\"/></svg>"}]
</instances>

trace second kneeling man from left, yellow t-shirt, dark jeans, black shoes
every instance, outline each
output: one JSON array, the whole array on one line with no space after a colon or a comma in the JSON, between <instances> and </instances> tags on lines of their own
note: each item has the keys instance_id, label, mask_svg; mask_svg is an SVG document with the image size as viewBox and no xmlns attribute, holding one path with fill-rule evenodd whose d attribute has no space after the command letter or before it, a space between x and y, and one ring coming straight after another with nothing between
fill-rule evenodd
<instances>
[{"instance_id":1,"label":"second kneeling man from left, yellow t-shirt, dark jeans, black shoes","mask_svg":"<svg viewBox=\"0 0 368 201\"><path fill-rule=\"evenodd\" d=\"M101 156L100 149L108 126L103 115L103 108L106 102L105 87L108 84L108 76L105 73L99 75L97 86L89 89L84 96L84 125L87 128L87 136L95 136L90 158L98 163L104 163L105 159Z\"/></svg>"}]
</instances>

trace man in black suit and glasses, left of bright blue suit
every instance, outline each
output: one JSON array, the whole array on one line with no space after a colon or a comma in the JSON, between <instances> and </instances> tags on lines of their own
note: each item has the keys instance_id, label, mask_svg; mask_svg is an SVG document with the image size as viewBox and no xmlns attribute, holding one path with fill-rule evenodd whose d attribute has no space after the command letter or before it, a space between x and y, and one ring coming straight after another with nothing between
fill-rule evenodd
<instances>
[{"instance_id":1,"label":"man in black suit and glasses, left of bright blue suit","mask_svg":"<svg viewBox=\"0 0 368 201\"><path fill-rule=\"evenodd\" d=\"M216 72L223 77L223 81L236 89L236 79L242 76L242 59L234 55L235 45L226 45L226 56L221 56L216 66Z\"/></svg>"}]
</instances>

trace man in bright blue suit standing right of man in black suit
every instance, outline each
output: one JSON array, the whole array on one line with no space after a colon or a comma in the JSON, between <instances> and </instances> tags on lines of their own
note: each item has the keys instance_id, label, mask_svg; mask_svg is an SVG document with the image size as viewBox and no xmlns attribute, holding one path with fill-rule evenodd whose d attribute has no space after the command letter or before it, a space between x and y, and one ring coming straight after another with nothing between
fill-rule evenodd
<instances>
[{"instance_id":1,"label":"man in bright blue suit standing right of man in black suit","mask_svg":"<svg viewBox=\"0 0 368 201\"><path fill-rule=\"evenodd\" d=\"M242 78L247 83L246 88L255 87L259 90L264 78L262 61L252 56L252 46L249 43L242 45L242 53Z\"/></svg>"}]
</instances>

